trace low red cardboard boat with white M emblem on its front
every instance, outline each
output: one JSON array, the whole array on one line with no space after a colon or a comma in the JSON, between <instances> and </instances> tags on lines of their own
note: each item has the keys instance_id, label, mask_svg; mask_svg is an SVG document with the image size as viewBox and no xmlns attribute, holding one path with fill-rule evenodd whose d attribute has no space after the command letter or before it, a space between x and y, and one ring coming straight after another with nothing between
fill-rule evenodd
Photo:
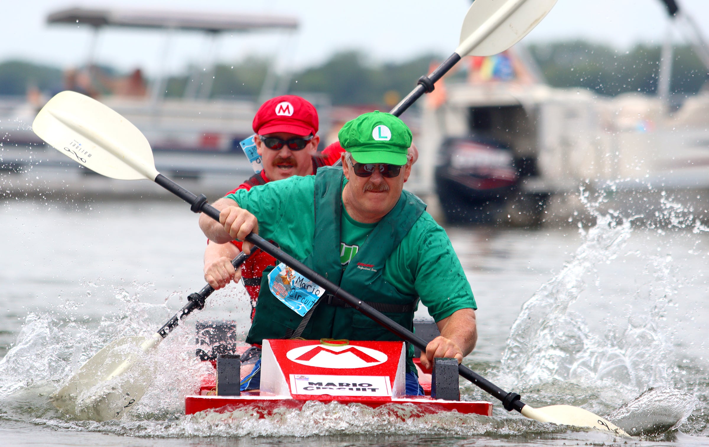
<instances>
[{"instance_id":1,"label":"low red cardboard boat with white M emblem on its front","mask_svg":"<svg viewBox=\"0 0 709 447\"><path fill-rule=\"evenodd\" d=\"M301 410L306 402L317 400L372 408L404 405L409 417L437 412L492 414L491 402L407 396L403 342L350 341L333 346L319 340L269 339L262 349L260 390L218 395L215 370L203 378L199 391L185 397L185 413L245 409L268 417L281 409ZM420 371L419 377L430 393L431 376ZM434 378L434 395L435 383Z\"/></svg>"}]
</instances>

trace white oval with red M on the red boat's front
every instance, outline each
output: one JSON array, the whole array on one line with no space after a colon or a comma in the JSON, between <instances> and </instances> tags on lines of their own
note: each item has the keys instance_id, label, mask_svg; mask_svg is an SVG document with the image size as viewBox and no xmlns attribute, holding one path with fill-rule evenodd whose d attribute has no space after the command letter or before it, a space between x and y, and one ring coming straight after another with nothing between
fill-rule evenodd
<instances>
[{"instance_id":1,"label":"white oval with red M on the red boat's front","mask_svg":"<svg viewBox=\"0 0 709 447\"><path fill-rule=\"evenodd\" d=\"M383 364L388 357L384 352L361 346L328 346L311 344L291 349L286 357L301 365L318 368L367 368Z\"/></svg>"}]
</instances>

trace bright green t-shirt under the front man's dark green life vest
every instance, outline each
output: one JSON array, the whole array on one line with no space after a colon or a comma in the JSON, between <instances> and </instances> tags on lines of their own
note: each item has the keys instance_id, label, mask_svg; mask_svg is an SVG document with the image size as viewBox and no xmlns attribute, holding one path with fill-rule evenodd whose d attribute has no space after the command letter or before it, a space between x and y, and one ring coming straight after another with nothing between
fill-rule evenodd
<instances>
[{"instance_id":1,"label":"bright green t-shirt under the front man's dark green life vest","mask_svg":"<svg viewBox=\"0 0 709 447\"><path fill-rule=\"evenodd\" d=\"M256 216L262 238L275 240L281 250L304 260L313 252L314 191L315 176L294 175L250 190L236 190L226 197ZM362 245L364 239L359 239L362 234L366 238L372 228L342 214L340 240L346 245ZM340 253L344 254L342 245ZM382 277L401 294L419 296L436 321L456 310L477 308L445 230L425 211L386 260ZM357 291L350 293L357 296Z\"/></svg>"}]
</instances>

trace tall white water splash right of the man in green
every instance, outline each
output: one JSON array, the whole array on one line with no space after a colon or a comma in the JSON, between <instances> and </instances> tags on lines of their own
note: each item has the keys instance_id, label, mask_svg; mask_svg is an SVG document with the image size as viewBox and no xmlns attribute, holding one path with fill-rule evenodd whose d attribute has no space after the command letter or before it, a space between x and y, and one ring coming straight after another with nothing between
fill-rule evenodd
<instances>
[{"instance_id":1,"label":"tall white water splash right of the man in green","mask_svg":"<svg viewBox=\"0 0 709 447\"><path fill-rule=\"evenodd\" d=\"M553 378L596 378L610 372L613 366L626 364L616 349L616 355L607 360L601 340L569 307L584 289L584 274L617 256L631 231L630 221L618 223L613 216L600 216L596 226L586 233L574 259L524 304L502 360L506 371L519 372L518 381L532 385Z\"/></svg>"}]
</instances>

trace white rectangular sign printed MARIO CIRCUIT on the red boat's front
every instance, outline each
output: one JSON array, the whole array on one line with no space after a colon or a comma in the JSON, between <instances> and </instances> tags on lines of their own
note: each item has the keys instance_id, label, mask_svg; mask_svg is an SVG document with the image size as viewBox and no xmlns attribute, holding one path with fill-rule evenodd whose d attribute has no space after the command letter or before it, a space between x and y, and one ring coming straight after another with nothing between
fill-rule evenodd
<instances>
[{"instance_id":1,"label":"white rectangular sign printed MARIO CIRCUIT on the red boat's front","mask_svg":"<svg viewBox=\"0 0 709 447\"><path fill-rule=\"evenodd\" d=\"M388 376L291 374L291 392L331 396L391 396Z\"/></svg>"}]
</instances>

